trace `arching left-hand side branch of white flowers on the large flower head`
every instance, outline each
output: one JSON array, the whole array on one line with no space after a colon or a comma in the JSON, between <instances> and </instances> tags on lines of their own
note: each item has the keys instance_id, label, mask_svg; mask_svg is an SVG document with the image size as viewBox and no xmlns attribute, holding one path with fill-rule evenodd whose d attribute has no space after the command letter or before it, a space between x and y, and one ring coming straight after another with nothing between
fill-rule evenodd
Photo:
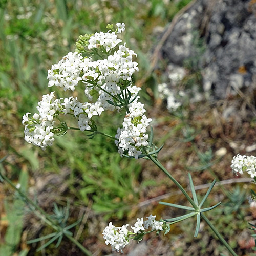
<instances>
[{"instance_id":1,"label":"arching left-hand side branch of white flowers on the large flower head","mask_svg":"<svg viewBox=\"0 0 256 256\"><path fill-rule=\"evenodd\" d=\"M60 113L66 115L67 113L78 117L78 127L83 132L91 130L90 119L93 115L100 115L104 109L96 103L81 103L76 98L70 97L65 99L55 99L54 92L43 95L42 101L38 102L37 110L39 114L35 113L32 118L29 114L23 116L23 125L25 125L25 141L39 146L45 150L47 146L51 146L54 141L53 118Z\"/></svg>"}]
</instances>

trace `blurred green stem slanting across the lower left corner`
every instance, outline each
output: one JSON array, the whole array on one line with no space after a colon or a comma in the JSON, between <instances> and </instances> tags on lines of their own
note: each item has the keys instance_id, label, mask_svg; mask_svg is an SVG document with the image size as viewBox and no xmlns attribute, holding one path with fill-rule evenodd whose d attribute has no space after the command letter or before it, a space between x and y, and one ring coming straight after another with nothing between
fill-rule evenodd
<instances>
[{"instance_id":1,"label":"blurred green stem slanting across the lower left corner","mask_svg":"<svg viewBox=\"0 0 256 256\"><path fill-rule=\"evenodd\" d=\"M36 205L31 199L29 199L22 190L18 189L10 179L8 179L5 175L0 173L0 177L3 178L13 189L17 191L17 193L22 196L28 204L32 205L38 212L34 212L35 215L37 215L41 220L43 220L45 223L47 223L49 226L51 226L55 230L59 230L59 228L55 225L55 223L50 219L48 214L41 209L38 205ZM76 241L73 237L71 237L69 234L64 233L67 238L69 238L70 241L72 241L82 252L84 252L87 256L92 256L91 252L84 248L78 241Z\"/></svg>"}]
</instances>

